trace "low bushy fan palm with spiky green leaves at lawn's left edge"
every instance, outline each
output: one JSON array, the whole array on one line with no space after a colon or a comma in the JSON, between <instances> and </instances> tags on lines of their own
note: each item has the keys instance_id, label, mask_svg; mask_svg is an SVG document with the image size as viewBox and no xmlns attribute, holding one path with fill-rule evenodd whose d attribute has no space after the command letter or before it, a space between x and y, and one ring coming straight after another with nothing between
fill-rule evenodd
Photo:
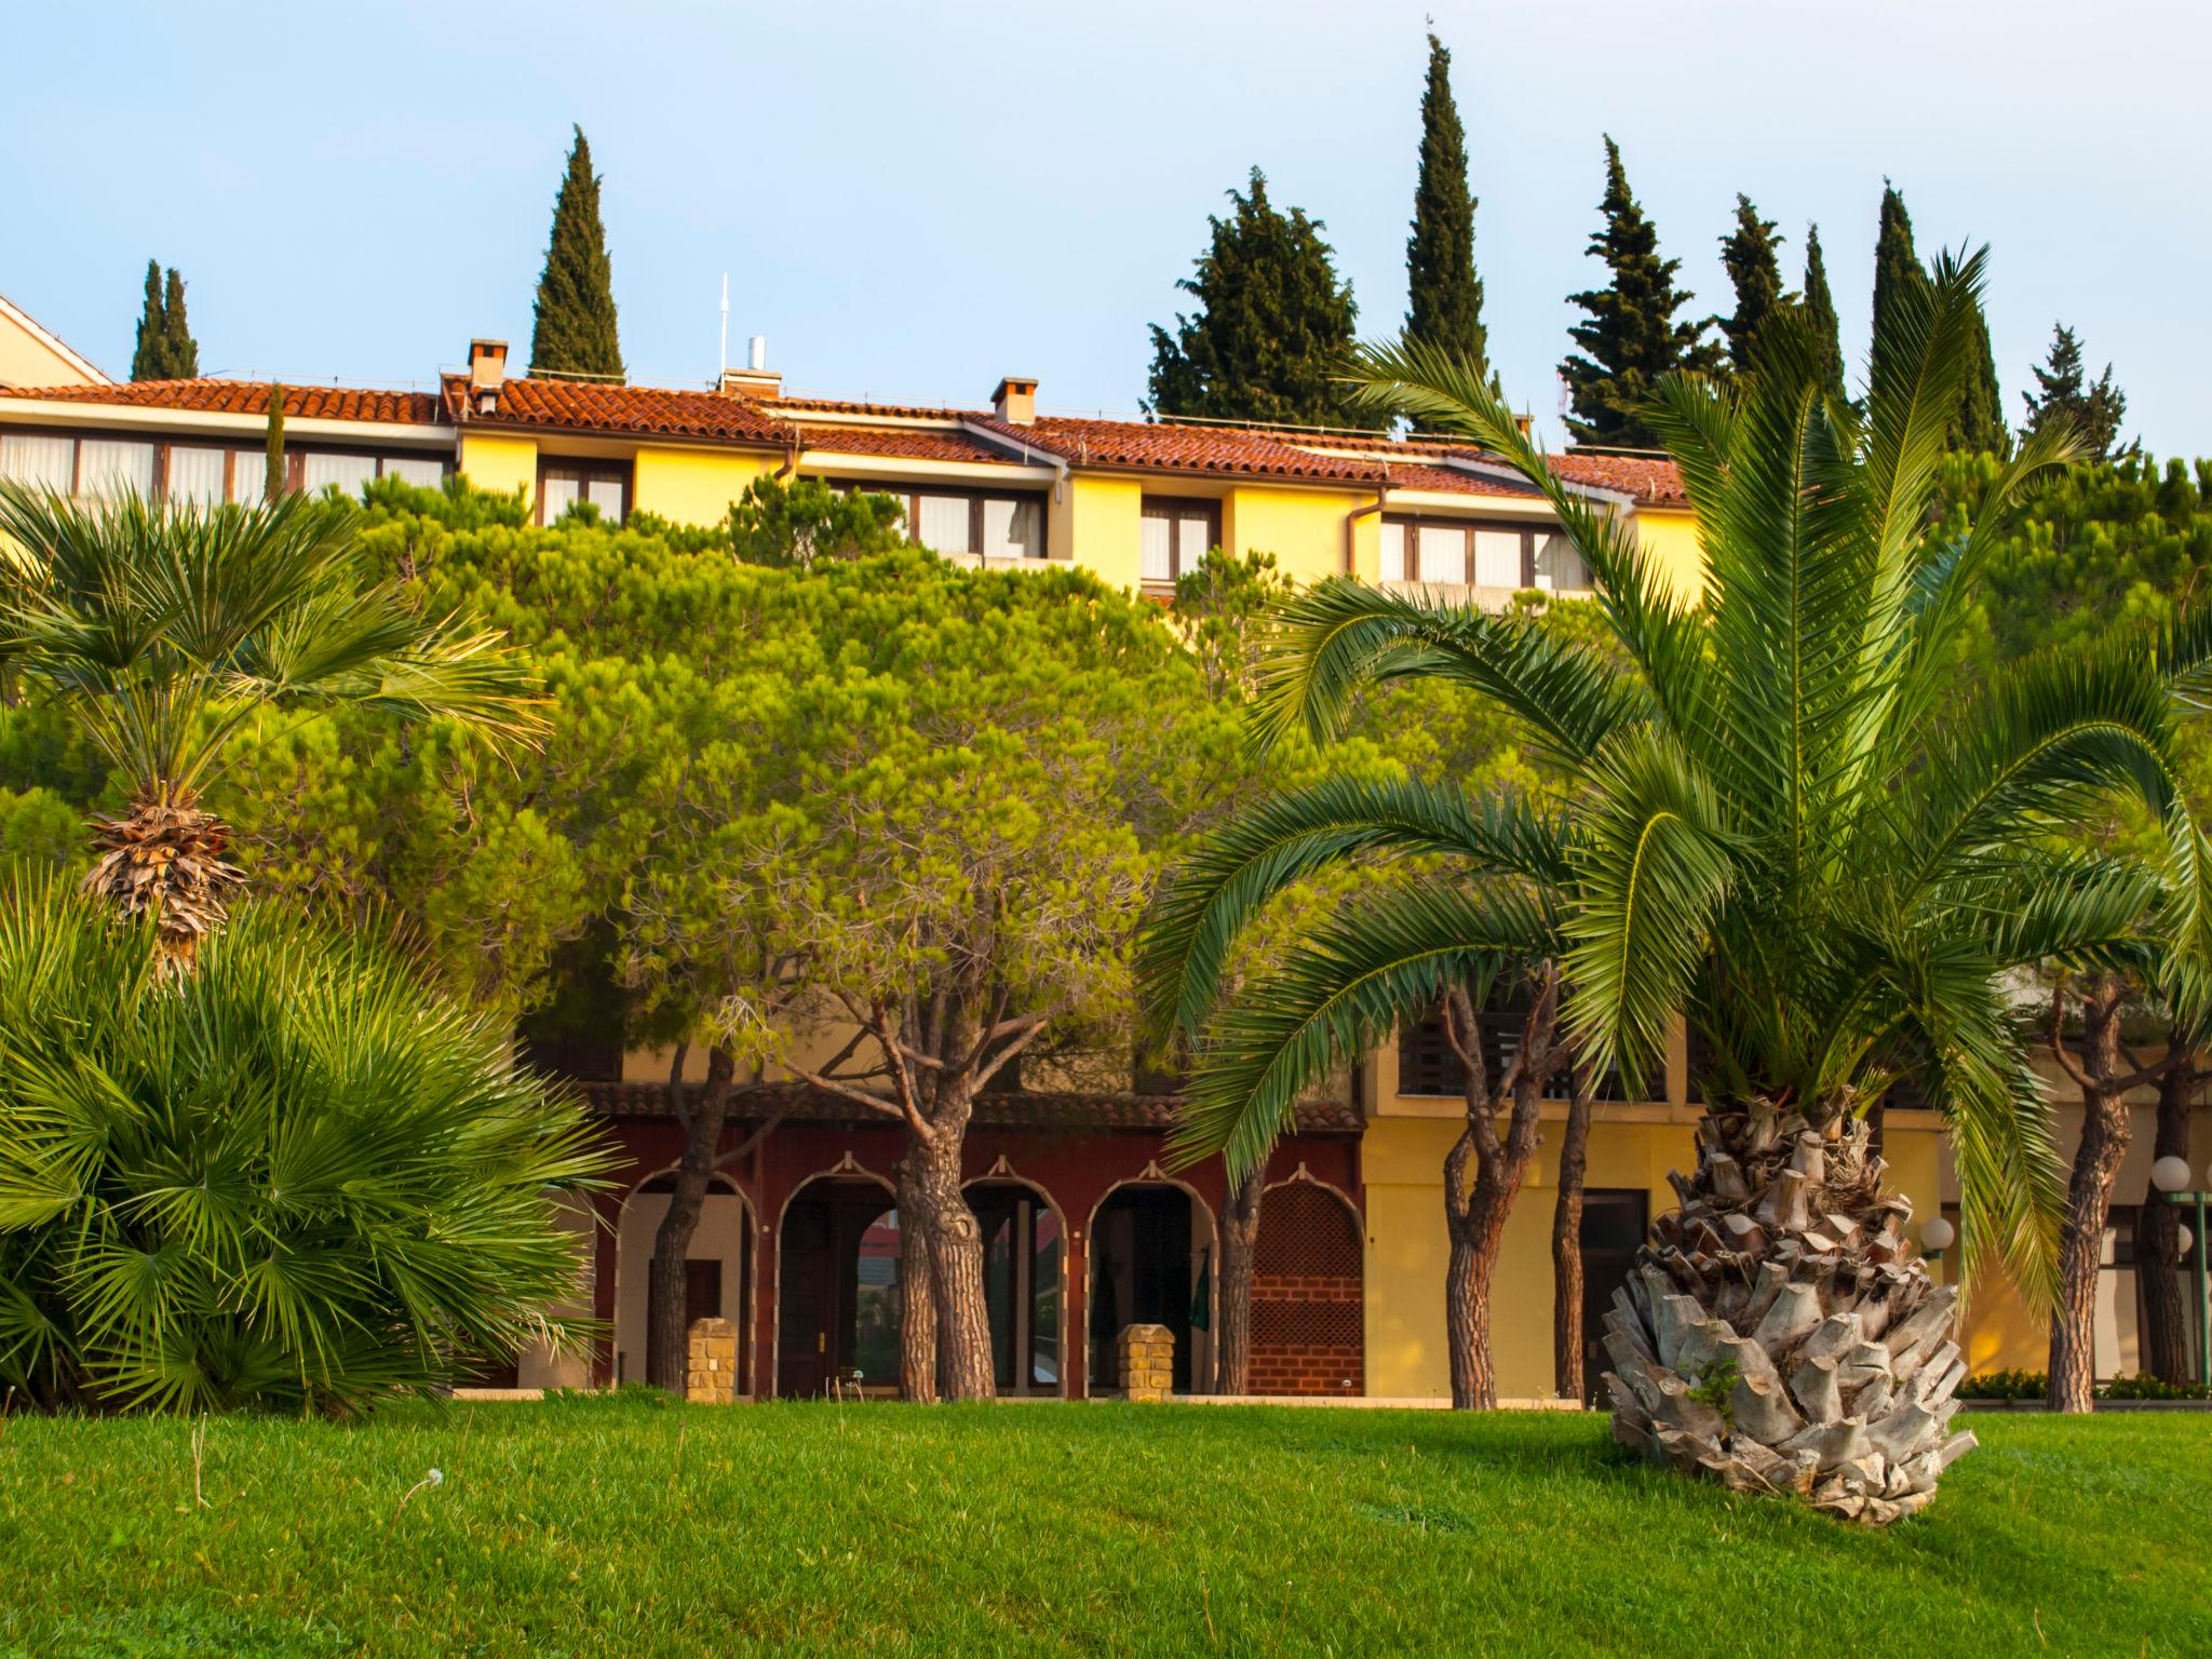
<instances>
[{"instance_id":1,"label":"low bushy fan palm with spiky green leaves at lawn's left edge","mask_svg":"<svg viewBox=\"0 0 2212 1659\"><path fill-rule=\"evenodd\" d=\"M358 1411L573 1340L582 1113L374 933L248 909L181 980L0 894L0 1378L33 1400Z\"/></svg>"}]
</instances>

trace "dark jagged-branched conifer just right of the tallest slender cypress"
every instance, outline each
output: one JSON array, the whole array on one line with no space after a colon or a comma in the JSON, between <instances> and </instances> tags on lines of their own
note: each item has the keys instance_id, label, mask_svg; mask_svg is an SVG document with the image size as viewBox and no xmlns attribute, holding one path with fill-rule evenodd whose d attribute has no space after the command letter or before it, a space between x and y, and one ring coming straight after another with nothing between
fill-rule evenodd
<instances>
[{"instance_id":1,"label":"dark jagged-branched conifer just right of the tallest slender cypress","mask_svg":"<svg viewBox=\"0 0 2212 1659\"><path fill-rule=\"evenodd\" d=\"M1621 146L1610 135L1599 212L1606 226L1590 237L1586 252L1606 261L1613 283L1573 296L1590 321L1575 323L1573 338L1582 349L1559 365L1575 409L1566 429L1575 442L1655 449L1657 438L1639 414L1652 385L1674 369L1712 369L1719 352L1699 338L1703 323L1674 321L1674 312L1692 299L1674 288L1681 261L1659 257L1659 232L1630 195Z\"/></svg>"}]
</instances>

